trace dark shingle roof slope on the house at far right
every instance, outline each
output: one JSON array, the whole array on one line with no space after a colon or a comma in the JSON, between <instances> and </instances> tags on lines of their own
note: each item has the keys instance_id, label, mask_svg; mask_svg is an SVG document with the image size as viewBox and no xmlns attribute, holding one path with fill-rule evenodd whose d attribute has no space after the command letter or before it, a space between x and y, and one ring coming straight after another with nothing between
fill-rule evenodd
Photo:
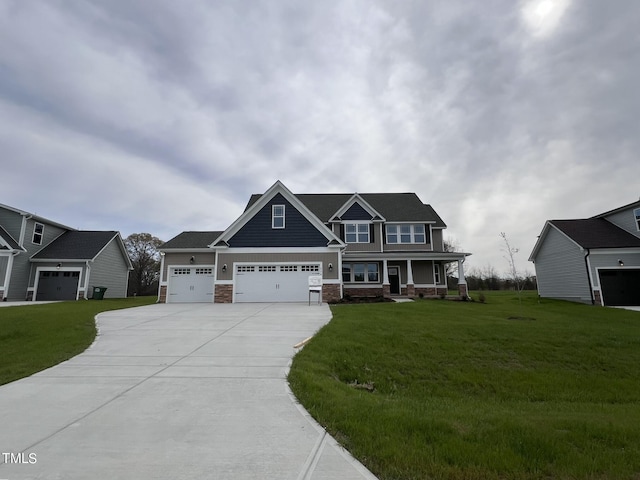
<instances>
[{"instance_id":1,"label":"dark shingle roof slope on the house at far right","mask_svg":"<svg viewBox=\"0 0 640 480\"><path fill-rule=\"evenodd\" d=\"M551 220L550 223L583 248L640 247L640 238L603 218Z\"/></svg>"}]
</instances>

